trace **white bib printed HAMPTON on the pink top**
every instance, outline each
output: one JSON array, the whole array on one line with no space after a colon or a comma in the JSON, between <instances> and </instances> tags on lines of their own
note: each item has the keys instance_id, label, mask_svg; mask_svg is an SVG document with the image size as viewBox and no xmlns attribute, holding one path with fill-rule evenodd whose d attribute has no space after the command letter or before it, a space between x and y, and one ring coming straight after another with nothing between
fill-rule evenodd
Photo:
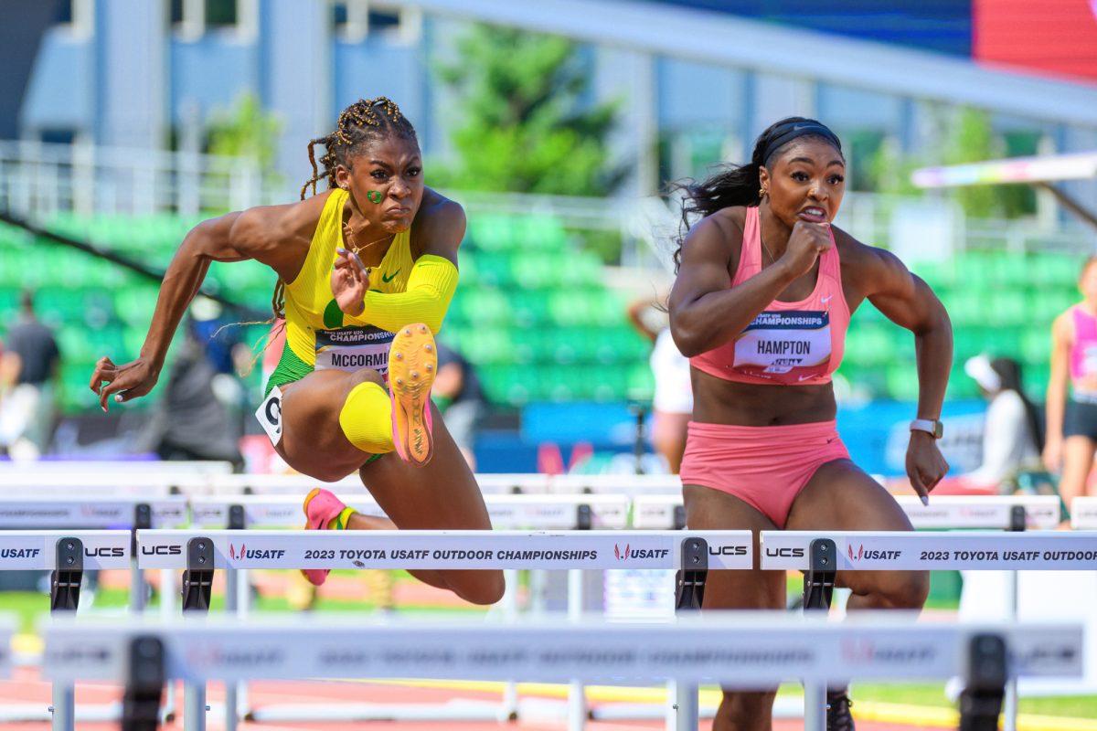
<instances>
[{"instance_id":1,"label":"white bib printed HAMPTON on the pink top","mask_svg":"<svg viewBox=\"0 0 1097 731\"><path fill-rule=\"evenodd\" d=\"M759 313L735 341L732 367L759 376L810 368L804 378L811 378L829 359L829 312L774 310Z\"/></svg>"}]
</instances>

